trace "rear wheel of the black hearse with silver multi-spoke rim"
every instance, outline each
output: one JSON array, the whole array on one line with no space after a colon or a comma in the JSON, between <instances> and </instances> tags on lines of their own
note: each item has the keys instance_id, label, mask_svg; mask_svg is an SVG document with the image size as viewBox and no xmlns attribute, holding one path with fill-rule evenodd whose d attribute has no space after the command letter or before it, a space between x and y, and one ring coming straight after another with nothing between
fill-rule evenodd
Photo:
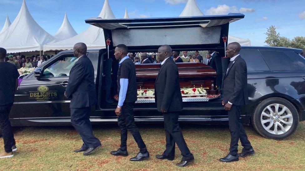
<instances>
[{"instance_id":1,"label":"rear wheel of the black hearse with silver multi-spoke rim","mask_svg":"<svg viewBox=\"0 0 305 171\"><path fill-rule=\"evenodd\" d=\"M280 105L283 105L284 107L287 107L287 109L291 112L291 115L292 115L292 120L288 120L288 118L285 118L285 119L282 119L281 120L284 120L284 121L290 121L292 124L290 127L289 125L286 125L284 124L283 122L281 122L280 118L278 118L277 116L275 117L266 117L266 116L262 116L262 112L265 108L267 108L269 105L272 105L272 104L280 104ZM272 111L275 112L275 106L274 108L272 108ZM280 109L283 109L281 107L278 108L278 111ZM282 111L282 110L281 110ZM269 110L265 110L264 111L265 113L267 114L271 114L271 112L269 112ZM269 112L269 113L268 113ZM275 114L275 113L274 113ZM284 112L282 116L285 116L287 115L288 116L288 113L287 112ZM268 115L269 116L269 115ZM272 115L271 115L272 116ZM274 116L274 115L273 115ZM267 131L264 127L263 127L263 123L261 122L261 117L263 119L263 121L266 119L268 119L269 121L272 121L272 122L267 122L267 123L264 123L264 126L268 129L268 126L271 126L271 128L269 128L268 130L269 131L272 131L272 127L273 127L273 133L270 133L269 131ZM281 116L280 116L281 117ZM276 126L275 124L277 123L278 121L283 128L288 128L287 130L285 129L285 133L283 133L284 131L282 131L281 127L278 125ZM277 123L277 124L279 124ZM275 139L275 140L281 140L281 139L284 139L284 138L287 138L288 136L292 135L294 133L294 131L296 131L297 129L297 126L298 126L298 123L299 123L299 115L298 115L298 112L297 112L297 109L293 106L293 104L289 101L287 101L286 99L283 99L283 98L280 98L280 97L271 97L271 98L267 98L265 100L263 100L262 102L260 102L257 107L255 108L254 110L254 113L253 113L253 116L252 116L252 125L254 127L254 129L262 136L266 137L266 138L270 138L270 139ZM270 124L270 125L269 125ZM278 133L278 135L274 134L274 130L275 128L274 127L277 127L277 128L280 128L282 132L280 132L280 134ZM285 126L285 127L284 127ZM286 127L287 126L287 127Z\"/></svg>"}]
</instances>

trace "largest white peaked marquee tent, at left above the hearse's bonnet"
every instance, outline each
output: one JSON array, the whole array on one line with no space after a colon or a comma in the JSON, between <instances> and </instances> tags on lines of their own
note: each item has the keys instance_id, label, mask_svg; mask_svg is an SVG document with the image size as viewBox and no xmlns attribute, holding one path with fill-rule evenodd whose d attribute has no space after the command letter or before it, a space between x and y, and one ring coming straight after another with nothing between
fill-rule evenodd
<instances>
[{"instance_id":1,"label":"largest white peaked marquee tent, at left above the hearse's bonnet","mask_svg":"<svg viewBox=\"0 0 305 171\"><path fill-rule=\"evenodd\" d=\"M15 20L0 34L0 46L8 53L40 51L43 45L55 41L56 38L43 30L33 19L25 0Z\"/></svg>"}]
</instances>

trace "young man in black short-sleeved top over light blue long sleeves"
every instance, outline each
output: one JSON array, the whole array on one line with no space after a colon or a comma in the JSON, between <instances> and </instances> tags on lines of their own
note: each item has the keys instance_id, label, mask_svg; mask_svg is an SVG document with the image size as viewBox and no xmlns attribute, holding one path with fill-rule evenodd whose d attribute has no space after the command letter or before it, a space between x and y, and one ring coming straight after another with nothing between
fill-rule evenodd
<instances>
[{"instance_id":1,"label":"young man in black short-sleeved top over light blue long sleeves","mask_svg":"<svg viewBox=\"0 0 305 171\"><path fill-rule=\"evenodd\" d=\"M137 101L136 69L133 61L127 56L126 45L118 45L114 50L114 56L119 60L118 69L118 107L115 114L118 116L118 126L121 129L121 146L117 151L111 151L116 156L128 156L127 152L127 130L131 132L137 142L140 152L130 161L141 161L149 158L146 145L134 122L133 105Z\"/></svg>"}]
</instances>

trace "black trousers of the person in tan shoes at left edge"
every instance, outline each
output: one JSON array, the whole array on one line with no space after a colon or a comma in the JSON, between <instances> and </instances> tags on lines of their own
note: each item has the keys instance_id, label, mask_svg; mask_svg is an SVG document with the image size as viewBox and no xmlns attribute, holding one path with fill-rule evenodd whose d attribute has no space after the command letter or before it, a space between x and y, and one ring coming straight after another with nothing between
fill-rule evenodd
<instances>
[{"instance_id":1,"label":"black trousers of the person in tan shoes at left edge","mask_svg":"<svg viewBox=\"0 0 305 171\"><path fill-rule=\"evenodd\" d=\"M12 105L13 103L0 106L0 129L4 141L4 150L7 153L12 152L12 146L16 145L11 122L8 117Z\"/></svg>"}]
</instances>

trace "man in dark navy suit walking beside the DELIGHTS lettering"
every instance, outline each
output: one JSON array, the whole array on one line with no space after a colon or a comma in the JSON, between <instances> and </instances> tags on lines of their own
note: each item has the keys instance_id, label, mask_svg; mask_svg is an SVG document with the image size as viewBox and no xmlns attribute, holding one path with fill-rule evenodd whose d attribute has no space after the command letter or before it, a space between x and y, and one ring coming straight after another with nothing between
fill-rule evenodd
<instances>
[{"instance_id":1,"label":"man in dark navy suit walking beside the DELIGHTS lettering","mask_svg":"<svg viewBox=\"0 0 305 171\"><path fill-rule=\"evenodd\" d=\"M86 55L87 46L77 43L73 47L73 54L78 61L72 67L65 96L71 98L71 123L80 134L83 146L74 152L91 154L101 146L100 140L93 135L91 122L91 106L96 103L96 91L94 84L94 68Z\"/></svg>"}]
</instances>

